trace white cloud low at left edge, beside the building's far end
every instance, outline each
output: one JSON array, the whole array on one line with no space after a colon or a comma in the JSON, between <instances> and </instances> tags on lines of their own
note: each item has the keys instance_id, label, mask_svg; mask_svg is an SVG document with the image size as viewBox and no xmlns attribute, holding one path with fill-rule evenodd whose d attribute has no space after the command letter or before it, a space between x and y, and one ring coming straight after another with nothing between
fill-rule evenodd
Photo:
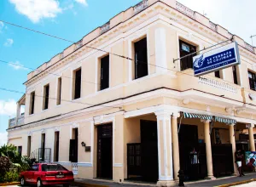
<instances>
[{"instance_id":1,"label":"white cloud low at left edge, beside the building's far end","mask_svg":"<svg viewBox=\"0 0 256 187\"><path fill-rule=\"evenodd\" d=\"M9 99L7 101L0 100L0 115L15 116L15 114L16 114L15 99Z\"/></svg>"}]
</instances>

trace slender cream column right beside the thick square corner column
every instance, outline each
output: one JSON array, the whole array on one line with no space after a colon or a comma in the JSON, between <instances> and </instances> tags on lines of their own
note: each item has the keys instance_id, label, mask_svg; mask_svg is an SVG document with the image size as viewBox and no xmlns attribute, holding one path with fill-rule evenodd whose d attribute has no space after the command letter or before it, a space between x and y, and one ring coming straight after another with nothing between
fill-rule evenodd
<instances>
[{"instance_id":1,"label":"slender cream column right beside the thick square corner column","mask_svg":"<svg viewBox=\"0 0 256 187\"><path fill-rule=\"evenodd\" d=\"M177 117L179 117L179 112L174 112L172 114L172 151L173 151L173 177L174 180L178 180L179 171L179 145L178 145L178 133L177 133Z\"/></svg>"}]
</instances>

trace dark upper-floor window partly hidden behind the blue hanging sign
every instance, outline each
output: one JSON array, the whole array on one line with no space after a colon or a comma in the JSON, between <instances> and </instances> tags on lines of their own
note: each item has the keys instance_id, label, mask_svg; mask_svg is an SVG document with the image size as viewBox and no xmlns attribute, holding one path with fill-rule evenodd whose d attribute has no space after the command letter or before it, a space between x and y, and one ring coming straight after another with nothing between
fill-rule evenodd
<instances>
[{"instance_id":1,"label":"dark upper-floor window partly hidden behind the blue hanging sign","mask_svg":"<svg viewBox=\"0 0 256 187\"><path fill-rule=\"evenodd\" d=\"M189 44L188 42L183 42L179 40L179 54L180 58L191 54L183 59L180 59L180 69L181 71L187 70L189 68L193 68L193 57L196 54L192 54L196 52L196 47L194 45Z\"/></svg>"}]
</instances>

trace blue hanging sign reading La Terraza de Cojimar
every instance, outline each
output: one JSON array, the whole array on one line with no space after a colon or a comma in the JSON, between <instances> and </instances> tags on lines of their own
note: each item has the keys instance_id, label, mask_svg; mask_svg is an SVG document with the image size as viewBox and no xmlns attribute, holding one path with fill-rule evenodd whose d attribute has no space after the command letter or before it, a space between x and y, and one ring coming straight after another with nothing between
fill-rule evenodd
<instances>
[{"instance_id":1,"label":"blue hanging sign reading La Terraza de Cojimar","mask_svg":"<svg viewBox=\"0 0 256 187\"><path fill-rule=\"evenodd\" d=\"M195 76L205 75L238 64L240 64L240 56L236 42L193 57Z\"/></svg>"}]
</instances>

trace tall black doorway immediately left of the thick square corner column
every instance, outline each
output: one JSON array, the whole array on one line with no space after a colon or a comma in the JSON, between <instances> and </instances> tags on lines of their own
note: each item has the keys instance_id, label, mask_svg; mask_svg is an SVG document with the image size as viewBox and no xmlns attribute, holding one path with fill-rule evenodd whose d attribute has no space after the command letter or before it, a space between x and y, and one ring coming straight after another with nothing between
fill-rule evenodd
<instances>
[{"instance_id":1,"label":"tall black doorway immediately left of the thick square corner column","mask_svg":"<svg viewBox=\"0 0 256 187\"><path fill-rule=\"evenodd\" d=\"M158 180L157 122L141 121L142 176L146 181Z\"/></svg>"}]
</instances>

